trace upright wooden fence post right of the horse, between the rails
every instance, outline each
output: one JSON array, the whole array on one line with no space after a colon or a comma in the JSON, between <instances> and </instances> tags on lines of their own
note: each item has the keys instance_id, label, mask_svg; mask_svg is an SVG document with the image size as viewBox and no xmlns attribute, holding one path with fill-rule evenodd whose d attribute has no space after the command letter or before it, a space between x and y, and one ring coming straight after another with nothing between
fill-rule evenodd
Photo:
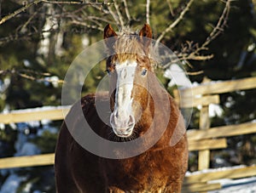
<instances>
[{"instance_id":1,"label":"upright wooden fence post right of the horse, between the rails","mask_svg":"<svg viewBox=\"0 0 256 193\"><path fill-rule=\"evenodd\" d=\"M202 106L200 111L200 129L210 128L209 105ZM210 165L210 150L200 150L198 152L198 170L207 169Z\"/></svg>"}]
</instances>

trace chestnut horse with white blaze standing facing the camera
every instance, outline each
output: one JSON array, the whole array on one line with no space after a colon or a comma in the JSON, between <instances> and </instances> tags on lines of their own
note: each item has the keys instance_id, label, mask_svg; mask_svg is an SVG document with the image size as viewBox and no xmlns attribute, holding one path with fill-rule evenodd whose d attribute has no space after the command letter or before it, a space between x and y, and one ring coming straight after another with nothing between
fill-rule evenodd
<instances>
[{"instance_id":1,"label":"chestnut horse with white blaze standing facing the camera","mask_svg":"<svg viewBox=\"0 0 256 193\"><path fill-rule=\"evenodd\" d=\"M137 36L105 27L111 53L106 60L109 92L84 96L62 123L55 149L57 192L181 192L188 167L185 126L174 99L154 74L151 39L148 24ZM102 121L96 103L109 105L110 111L102 112L109 123ZM87 129L84 119L102 139L117 145L137 143L112 150L116 157L95 155L73 137L73 132ZM72 124L67 126L67 121Z\"/></svg>"}]
</instances>

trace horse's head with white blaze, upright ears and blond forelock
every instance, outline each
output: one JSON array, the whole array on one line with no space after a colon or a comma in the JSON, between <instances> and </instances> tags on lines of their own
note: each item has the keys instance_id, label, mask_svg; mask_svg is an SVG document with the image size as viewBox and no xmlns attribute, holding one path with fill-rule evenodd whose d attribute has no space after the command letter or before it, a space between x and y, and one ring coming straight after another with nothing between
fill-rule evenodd
<instances>
[{"instance_id":1,"label":"horse's head with white blaze, upright ears and blond forelock","mask_svg":"<svg viewBox=\"0 0 256 193\"><path fill-rule=\"evenodd\" d=\"M109 38L112 37L112 38ZM110 55L107 71L110 77L110 123L113 132L129 138L148 106L148 74L153 71L148 56L152 31L145 24L138 36L120 34L108 25L104 39Z\"/></svg>"}]
</instances>

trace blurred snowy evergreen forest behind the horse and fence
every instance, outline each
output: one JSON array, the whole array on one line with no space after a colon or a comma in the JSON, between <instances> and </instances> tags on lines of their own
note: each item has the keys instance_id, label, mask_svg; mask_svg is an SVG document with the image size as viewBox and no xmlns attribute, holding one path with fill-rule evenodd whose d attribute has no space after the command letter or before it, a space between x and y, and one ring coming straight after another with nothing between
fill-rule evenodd
<instances>
[{"instance_id":1,"label":"blurred snowy evergreen forest behind the horse and fence","mask_svg":"<svg viewBox=\"0 0 256 193\"><path fill-rule=\"evenodd\" d=\"M255 77L255 11L255 0L0 0L0 111L61 105L67 68L84 48L102 40L108 23L117 31L150 23L154 39L177 54L194 84ZM157 74L172 93L163 76L169 67ZM102 62L87 77L84 94L94 92L105 74ZM255 121L255 96L255 89L221 94L212 127ZM198 128L198 114L194 110L189 128ZM0 157L54 152L60 125L1 124ZM212 168L256 163L255 134L228 143L228 150L212 151ZM190 155L191 172L196 156ZM55 192L53 167L0 170L0 192Z\"/></svg>"}]
</instances>

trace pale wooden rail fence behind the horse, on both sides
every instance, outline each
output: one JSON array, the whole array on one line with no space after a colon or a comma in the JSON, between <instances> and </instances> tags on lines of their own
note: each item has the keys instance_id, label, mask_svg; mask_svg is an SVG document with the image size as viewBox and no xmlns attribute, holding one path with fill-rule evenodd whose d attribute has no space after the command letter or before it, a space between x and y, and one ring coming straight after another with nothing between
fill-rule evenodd
<instances>
[{"instance_id":1,"label":"pale wooden rail fence behind the horse, on both sides","mask_svg":"<svg viewBox=\"0 0 256 193\"><path fill-rule=\"evenodd\" d=\"M180 89L175 92L177 103L181 108L200 108L200 126L199 129L189 130L189 150L199 151L198 168L207 169L210 163L211 150L224 149L227 147L225 137L241 134L256 133L256 123L245 122L239 125L222 126L211 128L209 117L209 105L218 104L218 94L229 93L236 90L245 90L256 88L256 77L245 78L236 81L206 83L192 89ZM193 92L193 99L189 99ZM192 102L191 102L192 101ZM15 122L30 122L47 120L62 120L69 110L69 106L55 108L36 108L26 111L11 111L8 114L0 114L0 123L9 124ZM34 167L54 164L55 155L35 155L8 157L0 159L0 169L10 167ZM209 183L215 179L239 179L256 175L256 166L238 167L229 170L215 170L213 172L192 173L185 177L183 192L205 192L208 190L221 189L221 184Z\"/></svg>"}]
</instances>

